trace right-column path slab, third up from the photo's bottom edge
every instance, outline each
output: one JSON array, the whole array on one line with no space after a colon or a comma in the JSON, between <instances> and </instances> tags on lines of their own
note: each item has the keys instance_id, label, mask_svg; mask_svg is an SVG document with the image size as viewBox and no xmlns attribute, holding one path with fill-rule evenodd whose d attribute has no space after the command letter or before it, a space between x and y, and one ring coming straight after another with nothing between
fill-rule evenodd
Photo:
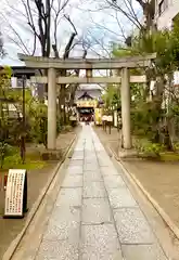
<instances>
[{"instance_id":1,"label":"right-column path slab, third up from the photo's bottom edge","mask_svg":"<svg viewBox=\"0 0 179 260\"><path fill-rule=\"evenodd\" d=\"M108 188L108 198L112 208L138 207L137 202L132 197L127 187Z\"/></svg>"}]
</instances>

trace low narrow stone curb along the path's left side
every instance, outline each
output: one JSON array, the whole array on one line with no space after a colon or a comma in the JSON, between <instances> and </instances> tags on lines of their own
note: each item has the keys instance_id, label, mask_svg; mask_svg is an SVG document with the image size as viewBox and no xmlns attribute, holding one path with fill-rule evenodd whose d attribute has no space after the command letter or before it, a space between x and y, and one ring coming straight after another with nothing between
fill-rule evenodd
<instances>
[{"instance_id":1,"label":"low narrow stone curb along the path's left side","mask_svg":"<svg viewBox=\"0 0 179 260\"><path fill-rule=\"evenodd\" d=\"M57 164L57 166L55 167L55 169L53 170L52 176L49 178L48 183L46 184L46 186L42 188L40 195L38 196L36 203L34 204L33 208L30 209L27 219L26 219L26 223L25 226L23 227L22 232L16 236L16 238L11 243L11 245L9 246L8 250L5 251L5 253L3 255L2 260L11 260L15 250L17 249L21 240L23 239L23 236L25 235L28 226L30 225L37 210L39 209L48 190L50 188L51 183L53 182L59 169L61 168L62 164L64 162L64 160L66 159L66 157L68 157L68 154L71 153L71 148L73 146L73 144L75 143L77 139L77 134L75 134L74 139L72 140L72 142L69 143L66 152L63 155L62 160Z\"/></svg>"}]
</instances>

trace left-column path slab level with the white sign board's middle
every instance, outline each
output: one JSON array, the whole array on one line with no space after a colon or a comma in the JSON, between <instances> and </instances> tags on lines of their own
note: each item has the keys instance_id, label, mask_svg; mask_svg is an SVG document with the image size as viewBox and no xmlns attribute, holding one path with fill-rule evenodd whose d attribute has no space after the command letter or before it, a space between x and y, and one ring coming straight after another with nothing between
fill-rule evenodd
<instances>
[{"instance_id":1,"label":"left-column path slab level with the white sign board's middle","mask_svg":"<svg viewBox=\"0 0 179 260\"><path fill-rule=\"evenodd\" d=\"M55 206L68 206L68 207L79 207L81 206L82 188L72 187L72 188L61 188Z\"/></svg>"}]
</instances>

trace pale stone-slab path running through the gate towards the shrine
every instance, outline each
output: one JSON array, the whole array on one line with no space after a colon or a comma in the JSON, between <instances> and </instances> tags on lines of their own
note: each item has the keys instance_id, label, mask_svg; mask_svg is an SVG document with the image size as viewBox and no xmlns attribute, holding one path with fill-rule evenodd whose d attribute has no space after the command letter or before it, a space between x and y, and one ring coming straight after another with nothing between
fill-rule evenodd
<instances>
[{"instance_id":1,"label":"pale stone-slab path running through the gate towards the shrine","mask_svg":"<svg viewBox=\"0 0 179 260\"><path fill-rule=\"evenodd\" d=\"M36 260L166 260L90 126L76 144Z\"/></svg>"}]
</instances>

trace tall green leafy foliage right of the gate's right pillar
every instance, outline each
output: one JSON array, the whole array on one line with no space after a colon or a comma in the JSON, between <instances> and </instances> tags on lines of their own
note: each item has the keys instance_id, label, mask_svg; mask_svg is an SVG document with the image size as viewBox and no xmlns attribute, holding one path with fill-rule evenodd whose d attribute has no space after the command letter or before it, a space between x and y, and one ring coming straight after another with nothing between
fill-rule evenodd
<instances>
[{"instance_id":1,"label":"tall green leafy foliage right of the gate's right pillar","mask_svg":"<svg viewBox=\"0 0 179 260\"><path fill-rule=\"evenodd\" d=\"M174 72L179 69L179 20L175 21L171 30L146 30L135 37L131 46L113 46L113 55L117 57L148 53L156 53L153 66L148 69L130 70L131 75L145 74L148 81L145 89L138 83L130 84L133 98L131 100L131 121L133 134L149 140L144 150L157 154L163 146L169 150L174 148L176 140L172 138L172 129L178 129L175 132L179 131L179 95L176 88L172 87ZM155 92L152 95L150 92L151 80L155 80ZM108 95L111 95L110 91ZM151 95L150 102L149 95ZM164 108L163 103L168 96L170 98Z\"/></svg>"}]
</instances>

